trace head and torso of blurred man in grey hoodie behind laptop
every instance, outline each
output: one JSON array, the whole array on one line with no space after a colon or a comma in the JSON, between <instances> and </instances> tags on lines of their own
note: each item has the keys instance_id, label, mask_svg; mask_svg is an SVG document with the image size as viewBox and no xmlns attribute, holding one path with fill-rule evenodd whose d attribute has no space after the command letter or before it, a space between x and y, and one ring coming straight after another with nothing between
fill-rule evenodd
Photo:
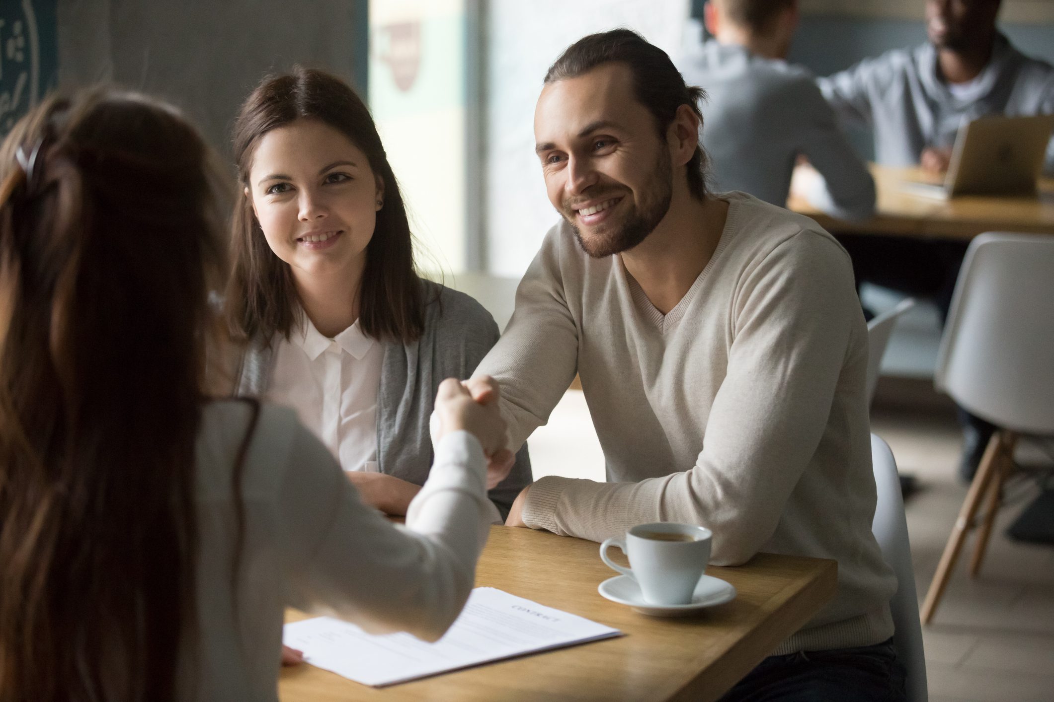
<instances>
[{"instance_id":1,"label":"head and torso of blurred man in grey hoodie behind laptop","mask_svg":"<svg viewBox=\"0 0 1054 702\"><path fill-rule=\"evenodd\" d=\"M928 0L928 43L819 80L840 119L874 132L878 163L945 171L963 120L1054 113L1054 66L999 33L1000 1ZM1054 175L1054 140L1043 172Z\"/></svg>"}]
</instances>

